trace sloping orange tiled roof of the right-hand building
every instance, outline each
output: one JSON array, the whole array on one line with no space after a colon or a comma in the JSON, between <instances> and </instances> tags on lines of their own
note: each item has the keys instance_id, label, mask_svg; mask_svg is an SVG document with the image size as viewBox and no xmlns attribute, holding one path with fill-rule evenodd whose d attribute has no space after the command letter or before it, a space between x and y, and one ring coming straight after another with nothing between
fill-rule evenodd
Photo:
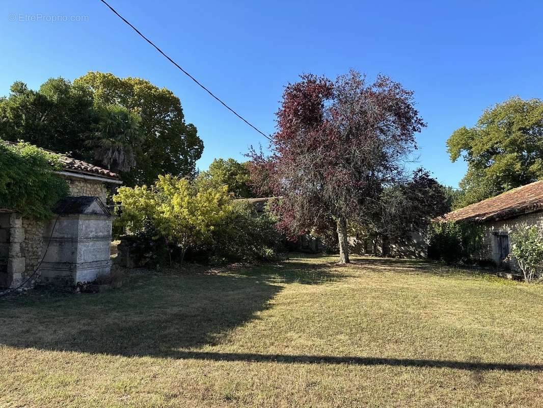
<instances>
[{"instance_id":1,"label":"sloping orange tiled roof of the right-hand building","mask_svg":"<svg viewBox=\"0 0 543 408\"><path fill-rule=\"evenodd\" d=\"M445 214L445 221L483 222L543 211L543 180L514 188L491 199Z\"/></svg>"}]
</instances>

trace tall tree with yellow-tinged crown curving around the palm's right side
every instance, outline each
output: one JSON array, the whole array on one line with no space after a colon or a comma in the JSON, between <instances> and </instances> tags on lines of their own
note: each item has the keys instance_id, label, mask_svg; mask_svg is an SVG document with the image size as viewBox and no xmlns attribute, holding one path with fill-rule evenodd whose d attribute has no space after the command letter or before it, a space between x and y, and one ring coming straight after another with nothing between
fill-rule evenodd
<instances>
[{"instance_id":1,"label":"tall tree with yellow-tinged crown curving around the palm's right side","mask_svg":"<svg viewBox=\"0 0 543 408\"><path fill-rule=\"evenodd\" d=\"M185 122L181 102L171 90L102 72L89 72L74 84L89 90L100 106L119 105L141 116L142 148L136 167L123 175L125 184L152 184L161 174L194 174L204 144L196 127Z\"/></svg>"}]
</instances>

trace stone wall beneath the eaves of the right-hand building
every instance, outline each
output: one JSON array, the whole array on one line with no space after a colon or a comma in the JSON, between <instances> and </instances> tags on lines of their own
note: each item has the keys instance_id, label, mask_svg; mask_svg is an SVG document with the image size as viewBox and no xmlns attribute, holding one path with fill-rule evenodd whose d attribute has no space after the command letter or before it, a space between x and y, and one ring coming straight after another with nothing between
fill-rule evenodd
<instances>
[{"instance_id":1,"label":"stone wall beneath the eaves of the right-hand building","mask_svg":"<svg viewBox=\"0 0 543 408\"><path fill-rule=\"evenodd\" d=\"M483 249L476 258L481 260L491 260L494 263L500 263L500 250L497 245L498 234L506 234L509 236L509 250L513 247L514 240L511 236L512 233L518 231L521 228L528 226L537 226L543 231L543 212L533 212L528 214L522 214L517 217L509 218L500 221L489 221L483 224ZM509 267L517 270L516 263L509 262Z\"/></svg>"}]
</instances>

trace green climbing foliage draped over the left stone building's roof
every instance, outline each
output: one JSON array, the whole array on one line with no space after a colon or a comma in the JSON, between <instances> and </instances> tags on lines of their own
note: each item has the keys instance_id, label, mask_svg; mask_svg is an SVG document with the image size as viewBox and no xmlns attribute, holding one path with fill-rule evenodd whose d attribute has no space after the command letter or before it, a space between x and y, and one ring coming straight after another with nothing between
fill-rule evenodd
<instances>
[{"instance_id":1,"label":"green climbing foliage draped over the left stone building's roof","mask_svg":"<svg viewBox=\"0 0 543 408\"><path fill-rule=\"evenodd\" d=\"M7 145L0 140L0 208L24 217L52 217L55 203L68 195L68 184L54 174L60 169L56 154L29 143Z\"/></svg>"}]
</instances>

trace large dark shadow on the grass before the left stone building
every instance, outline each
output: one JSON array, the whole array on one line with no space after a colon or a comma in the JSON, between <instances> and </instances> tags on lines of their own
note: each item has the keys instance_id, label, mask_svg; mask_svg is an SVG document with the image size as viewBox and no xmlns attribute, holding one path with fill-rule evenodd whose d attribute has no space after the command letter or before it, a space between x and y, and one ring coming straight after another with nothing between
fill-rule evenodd
<instances>
[{"instance_id":1,"label":"large dark shadow on the grass before the left stone building","mask_svg":"<svg viewBox=\"0 0 543 408\"><path fill-rule=\"evenodd\" d=\"M168 356L173 349L225 342L233 329L270 307L284 283L344 279L328 269L287 262L231 273L140 273L130 274L122 289L102 294L14 295L0 299L0 344Z\"/></svg>"}]
</instances>

